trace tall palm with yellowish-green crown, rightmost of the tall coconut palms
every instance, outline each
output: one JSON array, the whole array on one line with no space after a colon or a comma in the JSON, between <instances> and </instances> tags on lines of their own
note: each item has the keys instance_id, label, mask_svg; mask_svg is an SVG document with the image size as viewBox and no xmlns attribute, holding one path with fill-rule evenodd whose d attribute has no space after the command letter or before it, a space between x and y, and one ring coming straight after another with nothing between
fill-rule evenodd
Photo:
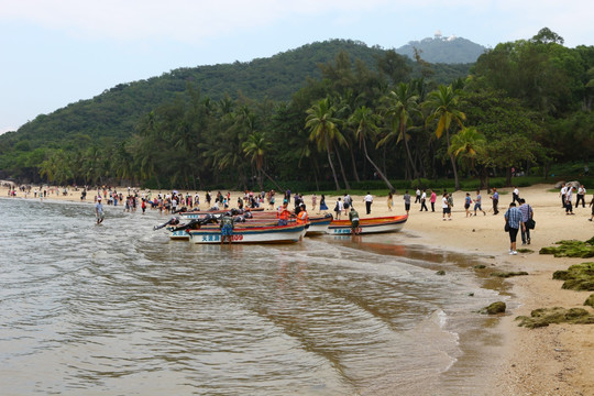
<instances>
[{"instance_id":1,"label":"tall palm with yellowish-green crown, rightmost of the tall coconut palms","mask_svg":"<svg viewBox=\"0 0 594 396\"><path fill-rule=\"evenodd\" d=\"M453 154L450 152L450 124L452 121L458 123L460 128L464 128L462 121L466 119L466 116L458 109L459 95L450 85L448 87L440 85L438 90L429 94L429 98L424 103L429 109L431 113L427 118L427 122L432 122L438 120L436 128L436 136L441 138L443 131L446 131L446 140L448 144L448 153L450 155L450 161L452 163L452 170L454 174L454 184L455 189L460 189L460 182L458 179L458 169L455 167L455 161Z\"/></svg>"}]
</instances>

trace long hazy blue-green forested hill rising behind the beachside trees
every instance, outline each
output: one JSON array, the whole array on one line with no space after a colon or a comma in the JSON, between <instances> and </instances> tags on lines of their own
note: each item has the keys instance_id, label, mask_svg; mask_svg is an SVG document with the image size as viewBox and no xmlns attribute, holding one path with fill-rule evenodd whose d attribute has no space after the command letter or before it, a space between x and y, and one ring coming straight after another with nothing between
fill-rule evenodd
<instances>
[{"instance_id":1,"label":"long hazy blue-green forested hill rising behind the beachside trees","mask_svg":"<svg viewBox=\"0 0 594 396\"><path fill-rule=\"evenodd\" d=\"M268 58L178 68L160 77L120 84L92 99L38 116L15 133L1 135L0 155L24 141L32 150L64 146L65 142L87 145L101 138L127 139L133 133L140 117L169 102L185 91L188 84L213 100L226 95L231 99L244 96L256 100L289 100L308 78L320 77L319 64L332 62L341 51L353 62L363 61L371 69L377 68L377 57L385 56L387 52L361 42L332 40L304 45ZM420 76L421 66L410 59L406 62L413 68L413 75ZM431 79L449 84L466 76L470 65L443 64L431 68Z\"/></svg>"}]
</instances>

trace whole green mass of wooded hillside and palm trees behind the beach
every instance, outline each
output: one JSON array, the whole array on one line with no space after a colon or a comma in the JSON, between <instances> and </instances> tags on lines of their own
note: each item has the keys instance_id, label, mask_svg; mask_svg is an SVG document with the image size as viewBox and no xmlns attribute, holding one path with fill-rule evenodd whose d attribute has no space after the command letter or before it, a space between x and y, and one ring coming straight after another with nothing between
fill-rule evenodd
<instances>
[{"instance_id":1,"label":"whole green mass of wooded hillside and palm trees behind the beach","mask_svg":"<svg viewBox=\"0 0 594 396\"><path fill-rule=\"evenodd\" d=\"M421 54L322 44L174 70L40 116L0 138L0 172L79 185L339 189L377 179L393 189L396 178L458 186L459 168L488 184L594 152L594 48L564 47L548 29L447 80ZM218 85L229 79L237 85Z\"/></svg>"}]
</instances>

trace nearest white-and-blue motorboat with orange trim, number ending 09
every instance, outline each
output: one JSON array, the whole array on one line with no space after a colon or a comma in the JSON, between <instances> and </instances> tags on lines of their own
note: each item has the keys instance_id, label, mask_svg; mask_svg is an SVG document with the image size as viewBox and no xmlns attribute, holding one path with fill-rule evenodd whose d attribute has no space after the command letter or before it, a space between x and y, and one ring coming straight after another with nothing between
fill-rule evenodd
<instances>
[{"instance_id":1,"label":"nearest white-and-blue motorboat with orange trim, number ending 09","mask_svg":"<svg viewBox=\"0 0 594 396\"><path fill-rule=\"evenodd\" d=\"M301 240L306 229L306 224L245 227L239 223L231 239L232 243L292 243ZM187 232L194 243L221 243L221 230L218 227L201 227Z\"/></svg>"}]
</instances>

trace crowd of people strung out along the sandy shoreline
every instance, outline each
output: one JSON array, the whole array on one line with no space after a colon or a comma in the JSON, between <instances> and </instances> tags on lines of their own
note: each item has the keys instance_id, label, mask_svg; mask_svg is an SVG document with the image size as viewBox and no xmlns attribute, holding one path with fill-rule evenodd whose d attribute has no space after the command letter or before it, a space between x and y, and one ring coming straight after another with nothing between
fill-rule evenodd
<instances>
[{"instance_id":1,"label":"crowd of people strung out along the sandy shoreline","mask_svg":"<svg viewBox=\"0 0 594 396\"><path fill-rule=\"evenodd\" d=\"M78 187L73 188L74 191L78 191ZM52 196L68 195L73 194L73 189L58 188L58 187L31 187L31 186L13 186L9 188L9 196L15 197L16 190L19 190L25 198L51 198ZM88 186L81 187L80 200L85 201L87 199L88 191L94 191L94 200L96 205L96 215L97 222L101 223L105 218L103 205L122 207L122 210L134 212L140 207L144 213L147 208L153 210L158 210L164 213L176 213L182 210L193 210L200 209L200 195L198 193L190 194L186 193L185 195L173 190L166 194L153 194L151 190L140 190L138 188L128 187L122 190L118 190L114 187L101 186L90 188ZM583 184L576 183L566 183L562 184L559 191L559 197L561 199L561 206L565 211L566 216L572 216L573 209L578 207L586 207L586 188ZM307 222L308 211L305 202L305 198L299 193L292 193L286 190L280 194L283 197L282 204L276 206L276 196L275 190L268 191L244 191L243 195L238 197L237 208L263 208L267 204L270 210L276 210L276 217L278 224L288 223L289 219L294 218L298 222ZM394 205L395 194L389 193L387 195L387 210L392 211L395 207ZM420 189L417 188L415 191L415 201L414 204L419 205L419 211L429 211L427 201L431 206L431 212L436 212L436 202L438 200L437 193L432 189ZM575 198L575 199L574 199ZM493 193L490 196L492 200L492 212L493 216L499 213L499 193L497 188L493 188ZM408 190L403 195L404 209L407 215L410 213L411 208L411 196ZM293 208L289 208L289 204L293 201ZM366 215L372 213L372 206L374 202L374 197L370 191L363 197L362 205L365 207ZM231 193L222 194L221 191L211 193L206 191L204 201L204 210L224 210L230 209L231 204ZM471 196L471 193L465 193L464 197L464 211L465 217L476 217L479 212L482 212L483 216L486 216L486 211L483 209L483 196L481 190L476 190L474 196ZM454 207L453 195L448 193L446 189L441 195L441 217L443 221L452 220L452 208ZM592 209L591 217L588 221L594 219L594 196L588 202L588 207ZM311 195L311 212L317 212L318 215L322 211L328 211L329 208L326 202L326 196L322 194L318 197L316 194ZM338 197L333 207L333 218L340 220L342 216L349 218L352 224L359 224L359 212L354 208L353 198L349 193L344 193L342 197ZM490 209L491 211L491 209ZM509 254L517 254L516 240L518 233L521 235L522 244L530 244L530 230L535 228L534 220L535 211L532 207L526 202L524 198L520 197L518 187L514 186L512 189L512 202L505 211L505 230L509 233L510 246ZM356 227L353 228L356 230ZM354 232L353 232L354 233Z\"/></svg>"}]
</instances>

